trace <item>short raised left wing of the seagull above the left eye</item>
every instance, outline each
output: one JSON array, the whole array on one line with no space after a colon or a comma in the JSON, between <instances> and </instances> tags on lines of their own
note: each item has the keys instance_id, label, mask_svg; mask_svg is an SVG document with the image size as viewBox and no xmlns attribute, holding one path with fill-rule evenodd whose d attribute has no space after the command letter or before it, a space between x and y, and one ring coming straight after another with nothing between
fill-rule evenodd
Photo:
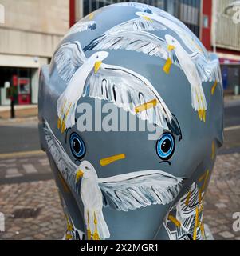
<instances>
[{"instance_id":1,"label":"short raised left wing of the seagull above the left eye","mask_svg":"<svg viewBox=\"0 0 240 256\"><path fill-rule=\"evenodd\" d=\"M60 77L69 82L77 69L87 60L80 42L66 42L61 45L53 56ZM52 65L51 65L52 66ZM52 67L53 70L53 67Z\"/></svg>"}]
</instances>

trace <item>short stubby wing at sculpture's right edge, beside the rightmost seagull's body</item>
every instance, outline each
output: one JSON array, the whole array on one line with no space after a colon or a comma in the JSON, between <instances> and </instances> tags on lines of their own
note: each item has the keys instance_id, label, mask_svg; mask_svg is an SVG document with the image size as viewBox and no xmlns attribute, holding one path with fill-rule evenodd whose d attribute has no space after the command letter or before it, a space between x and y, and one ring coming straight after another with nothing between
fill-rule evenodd
<instances>
[{"instance_id":1,"label":"short stubby wing at sculpture's right edge, beside the rightmost seagull's body","mask_svg":"<svg viewBox=\"0 0 240 256\"><path fill-rule=\"evenodd\" d=\"M203 82L222 82L218 59L207 59L203 54L193 53L191 59L195 63L199 76Z\"/></svg>"}]
</instances>

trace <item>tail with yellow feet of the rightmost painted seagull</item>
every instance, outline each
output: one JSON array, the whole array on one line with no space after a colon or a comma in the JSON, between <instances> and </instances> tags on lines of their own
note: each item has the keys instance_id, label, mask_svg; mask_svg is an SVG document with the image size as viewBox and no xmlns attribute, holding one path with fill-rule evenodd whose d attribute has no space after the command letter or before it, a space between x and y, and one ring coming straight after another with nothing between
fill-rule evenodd
<instances>
[{"instance_id":1,"label":"tail with yellow feet of the rightmost painted seagull","mask_svg":"<svg viewBox=\"0 0 240 256\"><path fill-rule=\"evenodd\" d=\"M198 111L200 120L206 122L207 102L202 85L191 86L191 105Z\"/></svg>"}]
</instances>

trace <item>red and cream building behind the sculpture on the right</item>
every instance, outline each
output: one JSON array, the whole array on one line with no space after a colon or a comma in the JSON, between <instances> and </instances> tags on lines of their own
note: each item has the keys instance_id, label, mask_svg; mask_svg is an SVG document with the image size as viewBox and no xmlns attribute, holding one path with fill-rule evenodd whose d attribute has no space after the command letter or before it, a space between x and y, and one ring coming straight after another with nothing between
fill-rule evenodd
<instances>
[{"instance_id":1,"label":"red and cream building behind the sculpture on the right","mask_svg":"<svg viewBox=\"0 0 240 256\"><path fill-rule=\"evenodd\" d=\"M235 2L203 0L202 42L207 50L218 54L227 94L233 94L235 87L240 86L240 20L234 21Z\"/></svg>"}]
</instances>

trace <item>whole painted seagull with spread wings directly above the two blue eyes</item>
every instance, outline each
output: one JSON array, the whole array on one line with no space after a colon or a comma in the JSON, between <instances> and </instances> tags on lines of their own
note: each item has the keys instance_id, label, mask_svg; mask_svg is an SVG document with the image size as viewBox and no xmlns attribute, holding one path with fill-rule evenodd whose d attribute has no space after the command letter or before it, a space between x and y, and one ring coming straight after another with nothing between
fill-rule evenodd
<instances>
[{"instance_id":1,"label":"whole painted seagull with spread wings directly above the two blue eyes","mask_svg":"<svg viewBox=\"0 0 240 256\"><path fill-rule=\"evenodd\" d=\"M57 127L63 132L75 124L79 98L108 100L118 107L163 129L174 126L167 105L148 79L122 66L102 63L108 52L85 57L79 42L65 43L54 54L57 72L66 88L57 99Z\"/></svg>"}]
</instances>

